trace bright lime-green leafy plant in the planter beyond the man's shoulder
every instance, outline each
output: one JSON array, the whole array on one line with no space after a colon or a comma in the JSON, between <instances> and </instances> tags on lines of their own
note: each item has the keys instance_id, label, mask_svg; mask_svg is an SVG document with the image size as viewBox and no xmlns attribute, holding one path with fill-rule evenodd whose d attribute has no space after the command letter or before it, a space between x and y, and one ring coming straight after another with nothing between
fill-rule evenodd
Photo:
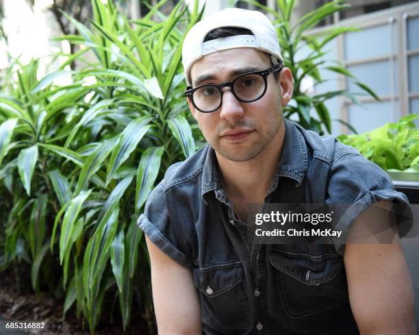
<instances>
[{"instance_id":1,"label":"bright lime-green leafy plant in the planter beyond the man's shoulder","mask_svg":"<svg viewBox=\"0 0 419 335\"><path fill-rule=\"evenodd\" d=\"M353 146L384 170L419 173L419 129L410 114L396 123L359 135L340 135L338 139Z\"/></svg>"}]
</instances>

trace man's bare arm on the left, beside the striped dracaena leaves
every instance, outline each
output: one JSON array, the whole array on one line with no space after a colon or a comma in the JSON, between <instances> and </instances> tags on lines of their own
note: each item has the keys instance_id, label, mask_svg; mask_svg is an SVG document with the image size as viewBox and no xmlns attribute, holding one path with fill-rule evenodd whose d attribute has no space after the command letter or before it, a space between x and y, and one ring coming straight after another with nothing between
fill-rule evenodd
<instances>
[{"instance_id":1,"label":"man's bare arm on the left, beside the striped dracaena leaves","mask_svg":"<svg viewBox=\"0 0 419 335\"><path fill-rule=\"evenodd\" d=\"M146 242L159 334L202 334L201 308L191 271L164 254L147 236Z\"/></svg>"}]
</instances>

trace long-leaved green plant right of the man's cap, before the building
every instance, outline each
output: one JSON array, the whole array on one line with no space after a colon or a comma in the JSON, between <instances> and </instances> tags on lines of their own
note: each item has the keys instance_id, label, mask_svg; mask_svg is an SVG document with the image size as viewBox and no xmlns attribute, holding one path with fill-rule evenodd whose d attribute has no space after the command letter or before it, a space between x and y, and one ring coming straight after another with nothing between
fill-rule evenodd
<instances>
[{"instance_id":1,"label":"long-leaved green plant right of the man's cap, before the building","mask_svg":"<svg viewBox=\"0 0 419 335\"><path fill-rule=\"evenodd\" d=\"M346 70L344 66L337 62L327 62L323 57L328 52L328 42L341 34L355 31L357 30L356 28L332 27L318 34L307 33L309 29L316 27L321 21L327 18L327 16L347 8L348 5L344 4L344 0L328 1L319 8L316 8L316 10L302 16L294 25L291 23L291 15L296 2L294 0L277 0L276 5L279 9L278 12L267 6L261 5L255 0L244 1L252 3L257 8L263 9L274 17L272 22L275 27L277 27L281 54L285 66L290 68L294 77L293 98L291 102L283 108L283 115L285 118L296 118L299 124L305 129L311 129L320 134L325 133L325 131L331 133L331 118L325 102L336 96L346 96L346 98L351 99L353 103L356 103L357 105L360 104L356 97L357 94L348 92L348 90L336 90L314 95L304 92L302 83L307 77L312 78L314 87L325 82L325 79L322 79L320 75L320 69L336 72L344 77L352 79L361 90L364 90L376 100L379 100L378 96L374 94L367 85L357 81L351 72ZM299 56L299 51L305 46L308 46L310 51L306 57L301 58L301 56ZM314 113L316 113L316 116L314 116ZM351 125L343 120L337 121L353 130Z\"/></svg>"}]
</instances>

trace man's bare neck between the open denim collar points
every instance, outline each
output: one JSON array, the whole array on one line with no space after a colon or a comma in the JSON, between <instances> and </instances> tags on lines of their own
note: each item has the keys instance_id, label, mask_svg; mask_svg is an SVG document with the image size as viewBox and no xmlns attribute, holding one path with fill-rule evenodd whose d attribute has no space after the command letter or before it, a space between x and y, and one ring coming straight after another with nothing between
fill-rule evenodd
<instances>
[{"instance_id":1,"label":"man's bare neck between the open denim collar points","mask_svg":"<svg viewBox=\"0 0 419 335\"><path fill-rule=\"evenodd\" d=\"M262 203L275 176L285 137L283 123L272 141L249 161L230 161L216 152L218 165L230 200ZM251 190L251 192L249 192Z\"/></svg>"}]
</instances>

